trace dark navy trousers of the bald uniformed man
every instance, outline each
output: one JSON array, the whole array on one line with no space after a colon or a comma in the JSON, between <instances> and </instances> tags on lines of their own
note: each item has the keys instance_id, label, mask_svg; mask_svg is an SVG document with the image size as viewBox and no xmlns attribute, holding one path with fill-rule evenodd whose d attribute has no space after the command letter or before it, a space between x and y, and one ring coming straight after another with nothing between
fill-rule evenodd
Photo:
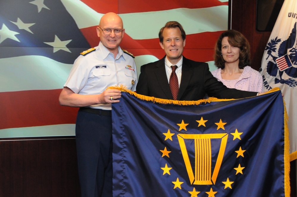
<instances>
[{"instance_id":1,"label":"dark navy trousers of the bald uniformed man","mask_svg":"<svg viewBox=\"0 0 297 197\"><path fill-rule=\"evenodd\" d=\"M111 197L111 111L103 110L104 115L98 115L83 109L78 111L75 128L81 194L82 197Z\"/></svg>"}]
</instances>

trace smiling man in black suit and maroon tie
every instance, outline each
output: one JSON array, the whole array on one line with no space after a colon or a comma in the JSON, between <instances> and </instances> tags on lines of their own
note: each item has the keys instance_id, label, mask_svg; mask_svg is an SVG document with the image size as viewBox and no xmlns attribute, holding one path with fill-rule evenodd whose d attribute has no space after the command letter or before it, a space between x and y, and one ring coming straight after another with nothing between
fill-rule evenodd
<instances>
[{"instance_id":1,"label":"smiling man in black suit and maroon tie","mask_svg":"<svg viewBox=\"0 0 297 197\"><path fill-rule=\"evenodd\" d=\"M136 86L138 94L180 101L200 100L206 93L219 99L239 99L257 95L257 92L227 88L213 77L207 63L183 57L186 33L178 22L167 22L159 32L159 40L166 55L159 61L141 66ZM176 68L175 72L172 66ZM178 83L177 90L173 91L170 89L170 84L173 84L172 75L177 77L174 81Z\"/></svg>"}]
</instances>

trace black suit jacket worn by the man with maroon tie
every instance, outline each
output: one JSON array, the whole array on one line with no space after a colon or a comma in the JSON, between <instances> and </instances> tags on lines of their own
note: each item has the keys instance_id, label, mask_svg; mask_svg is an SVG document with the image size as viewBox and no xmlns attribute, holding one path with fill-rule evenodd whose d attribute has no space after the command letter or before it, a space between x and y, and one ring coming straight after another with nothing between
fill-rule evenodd
<instances>
[{"instance_id":1,"label":"black suit jacket worn by the man with maroon tie","mask_svg":"<svg viewBox=\"0 0 297 197\"><path fill-rule=\"evenodd\" d=\"M141 66L136 93L173 100L166 76L165 57ZM219 99L240 99L257 95L257 92L227 88L211 74L207 63L183 57L177 100L197 101L203 99L206 93Z\"/></svg>"}]
</instances>

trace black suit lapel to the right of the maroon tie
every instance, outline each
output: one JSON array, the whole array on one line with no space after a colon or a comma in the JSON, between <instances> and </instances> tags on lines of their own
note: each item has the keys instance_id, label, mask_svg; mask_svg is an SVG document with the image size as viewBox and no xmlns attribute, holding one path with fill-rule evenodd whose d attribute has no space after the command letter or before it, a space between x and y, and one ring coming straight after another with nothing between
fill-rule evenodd
<instances>
[{"instance_id":1,"label":"black suit lapel to the right of the maroon tie","mask_svg":"<svg viewBox=\"0 0 297 197\"><path fill-rule=\"evenodd\" d=\"M181 68L181 83L178 89L177 100L180 100L183 96L187 86L189 85L192 74L193 70L191 69L191 65L187 61L187 58L183 57L183 64Z\"/></svg>"}]
</instances>

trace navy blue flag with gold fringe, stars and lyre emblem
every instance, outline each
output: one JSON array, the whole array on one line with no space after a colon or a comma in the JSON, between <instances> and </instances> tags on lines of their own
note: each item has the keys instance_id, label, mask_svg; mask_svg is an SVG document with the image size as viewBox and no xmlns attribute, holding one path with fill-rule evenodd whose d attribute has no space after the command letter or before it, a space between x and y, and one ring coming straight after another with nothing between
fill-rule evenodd
<instances>
[{"instance_id":1,"label":"navy blue flag with gold fringe, stars and lyre emblem","mask_svg":"<svg viewBox=\"0 0 297 197\"><path fill-rule=\"evenodd\" d=\"M289 197L286 118L279 89L209 101L122 92L112 105L113 196Z\"/></svg>"}]
</instances>

